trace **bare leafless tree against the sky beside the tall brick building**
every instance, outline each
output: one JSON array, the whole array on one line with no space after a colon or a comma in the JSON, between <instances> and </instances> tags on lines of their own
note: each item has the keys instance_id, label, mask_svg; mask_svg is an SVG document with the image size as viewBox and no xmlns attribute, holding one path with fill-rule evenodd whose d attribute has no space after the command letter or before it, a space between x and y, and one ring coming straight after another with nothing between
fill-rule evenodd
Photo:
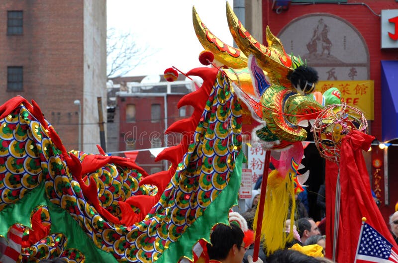
<instances>
[{"instance_id":1,"label":"bare leafless tree against the sky beside the tall brick building","mask_svg":"<svg viewBox=\"0 0 398 263\"><path fill-rule=\"evenodd\" d=\"M132 71L138 64L145 63L151 56L147 47L134 41L131 33L118 33L109 28L106 34L106 77L117 78Z\"/></svg>"}]
</instances>

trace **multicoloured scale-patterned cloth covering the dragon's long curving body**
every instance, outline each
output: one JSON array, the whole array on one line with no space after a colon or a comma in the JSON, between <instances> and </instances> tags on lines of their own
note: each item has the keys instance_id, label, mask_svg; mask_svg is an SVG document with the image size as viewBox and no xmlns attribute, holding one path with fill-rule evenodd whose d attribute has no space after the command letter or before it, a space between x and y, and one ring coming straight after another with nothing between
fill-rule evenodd
<instances>
[{"instance_id":1,"label":"multicoloured scale-patterned cloth covering the dragon's long curving body","mask_svg":"<svg viewBox=\"0 0 398 263\"><path fill-rule=\"evenodd\" d=\"M241 150L241 105L230 92L224 75L219 73L188 152L161 199L143 221L121 226L106 221L86 200L48 131L23 104L0 123L0 211L23 199L27 191L43 181L47 198L68 211L95 245L119 262L159 259L227 187L235 157ZM87 157L77 151L69 154L81 162ZM87 175L97 183L100 205L117 217L119 201L157 192L153 185L139 186L142 176L137 170L120 165L106 164ZM86 183L89 183L87 178ZM51 222L48 214L45 218ZM53 254L66 257L69 262L84 262L79 248L61 249L66 242L62 234L51 233L38 244L25 248L23 262L35 262L34 258L50 258Z\"/></svg>"}]
</instances>

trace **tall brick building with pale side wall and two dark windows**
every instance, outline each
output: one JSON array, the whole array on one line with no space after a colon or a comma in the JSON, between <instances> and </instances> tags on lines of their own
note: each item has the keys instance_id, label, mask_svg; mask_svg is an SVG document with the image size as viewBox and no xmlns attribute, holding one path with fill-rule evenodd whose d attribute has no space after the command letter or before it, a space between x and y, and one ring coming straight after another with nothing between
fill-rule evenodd
<instances>
[{"instance_id":1,"label":"tall brick building with pale side wall and two dark windows","mask_svg":"<svg viewBox=\"0 0 398 263\"><path fill-rule=\"evenodd\" d=\"M97 96L106 97L106 0L2 0L0 13L0 102L16 95L35 100L67 150L97 152ZM106 99L102 104L105 112Z\"/></svg>"}]
</instances>

